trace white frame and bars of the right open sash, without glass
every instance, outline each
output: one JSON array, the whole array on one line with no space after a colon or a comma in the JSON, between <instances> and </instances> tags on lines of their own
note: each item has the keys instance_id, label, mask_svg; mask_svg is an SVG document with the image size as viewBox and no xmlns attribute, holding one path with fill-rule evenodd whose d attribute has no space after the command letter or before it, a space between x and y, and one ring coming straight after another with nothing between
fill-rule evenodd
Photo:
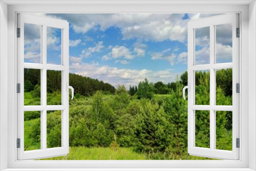
<instances>
[{"instance_id":1,"label":"white frame and bars of the right open sash, without glass","mask_svg":"<svg viewBox=\"0 0 256 171\"><path fill-rule=\"evenodd\" d=\"M232 62L216 62L216 26L232 24ZM196 32L198 28L209 27L209 56L208 65L196 65ZM188 22L188 153L216 159L239 159L239 93L236 92L236 83L239 83L239 14L223 14ZM240 33L241 36L241 33ZM216 70L232 68L232 105L216 105ZM196 71L210 71L210 103L209 105L196 105L195 103L195 77ZM210 134L209 148L196 146L196 111L209 111ZM216 111L232 111L232 151L216 149Z\"/></svg>"}]
</instances>

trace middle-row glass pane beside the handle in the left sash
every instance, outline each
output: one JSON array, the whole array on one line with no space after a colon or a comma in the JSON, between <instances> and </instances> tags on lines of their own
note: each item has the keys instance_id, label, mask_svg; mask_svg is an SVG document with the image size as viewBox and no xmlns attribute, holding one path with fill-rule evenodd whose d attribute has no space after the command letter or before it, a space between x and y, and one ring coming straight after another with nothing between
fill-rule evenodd
<instances>
[{"instance_id":1,"label":"middle-row glass pane beside the handle in the left sash","mask_svg":"<svg viewBox=\"0 0 256 171\"><path fill-rule=\"evenodd\" d=\"M47 70L47 105L61 105L61 73Z\"/></svg>"}]
</instances>

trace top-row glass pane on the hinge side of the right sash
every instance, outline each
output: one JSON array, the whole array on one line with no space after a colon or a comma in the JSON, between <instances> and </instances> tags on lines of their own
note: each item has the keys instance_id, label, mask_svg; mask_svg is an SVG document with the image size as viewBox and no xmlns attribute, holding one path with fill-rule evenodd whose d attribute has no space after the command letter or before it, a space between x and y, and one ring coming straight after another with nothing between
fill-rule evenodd
<instances>
[{"instance_id":1,"label":"top-row glass pane on the hinge side of the right sash","mask_svg":"<svg viewBox=\"0 0 256 171\"><path fill-rule=\"evenodd\" d=\"M232 23L216 26L216 63L232 62Z\"/></svg>"}]
</instances>

